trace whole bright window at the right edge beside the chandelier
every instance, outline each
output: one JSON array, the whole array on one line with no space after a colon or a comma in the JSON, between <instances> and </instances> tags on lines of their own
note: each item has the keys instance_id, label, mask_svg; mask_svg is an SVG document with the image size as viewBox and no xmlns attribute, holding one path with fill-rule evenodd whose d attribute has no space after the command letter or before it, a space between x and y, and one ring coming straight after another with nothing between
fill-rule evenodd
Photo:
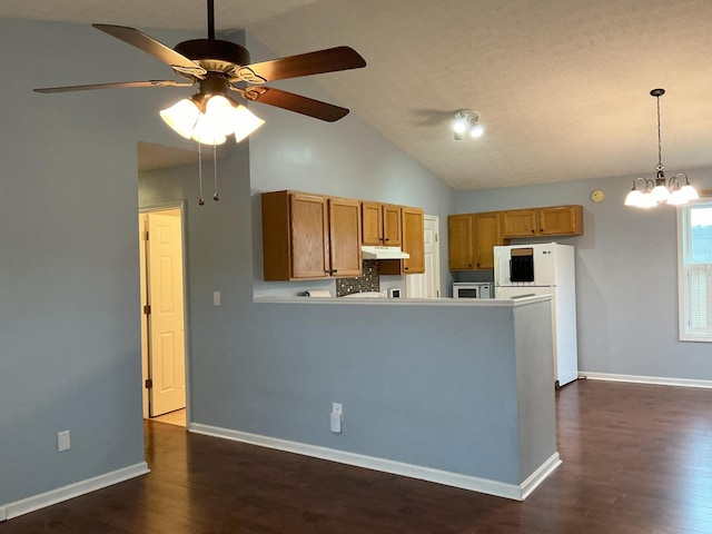
<instances>
[{"instance_id":1,"label":"whole bright window at the right edge beside the chandelier","mask_svg":"<svg viewBox=\"0 0 712 534\"><path fill-rule=\"evenodd\" d=\"M680 339L712 342L712 199L679 211Z\"/></svg>"}]
</instances>

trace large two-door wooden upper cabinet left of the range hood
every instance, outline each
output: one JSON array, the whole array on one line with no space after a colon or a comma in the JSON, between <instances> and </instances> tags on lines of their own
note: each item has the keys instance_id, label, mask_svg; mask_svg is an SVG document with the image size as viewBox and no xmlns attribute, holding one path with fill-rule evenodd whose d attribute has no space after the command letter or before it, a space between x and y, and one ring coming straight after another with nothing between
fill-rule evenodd
<instances>
[{"instance_id":1,"label":"large two-door wooden upper cabinet left of the range hood","mask_svg":"<svg viewBox=\"0 0 712 534\"><path fill-rule=\"evenodd\" d=\"M360 202L320 195L261 195L265 280L359 276Z\"/></svg>"}]
</instances>

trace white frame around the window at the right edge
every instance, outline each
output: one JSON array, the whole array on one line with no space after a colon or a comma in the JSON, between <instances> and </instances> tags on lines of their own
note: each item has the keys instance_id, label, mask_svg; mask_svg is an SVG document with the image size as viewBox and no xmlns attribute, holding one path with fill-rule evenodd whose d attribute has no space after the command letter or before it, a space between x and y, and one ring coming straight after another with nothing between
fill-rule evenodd
<instances>
[{"instance_id":1,"label":"white frame around the window at the right edge","mask_svg":"<svg viewBox=\"0 0 712 534\"><path fill-rule=\"evenodd\" d=\"M678 319L679 339L681 342L712 343L712 263L709 264L686 264L685 254L690 250L690 210L704 206L712 208L712 197L701 197L699 200L678 207ZM688 328L688 320L691 315L689 299L689 270L706 270L706 294L708 294L708 327L705 330L692 332Z\"/></svg>"}]
</instances>

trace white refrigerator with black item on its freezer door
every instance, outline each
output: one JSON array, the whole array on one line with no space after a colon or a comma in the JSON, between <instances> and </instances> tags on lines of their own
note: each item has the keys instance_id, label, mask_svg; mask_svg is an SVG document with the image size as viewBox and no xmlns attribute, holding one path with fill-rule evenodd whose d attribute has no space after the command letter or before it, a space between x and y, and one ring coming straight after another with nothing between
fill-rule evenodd
<instances>
[{"instance_id":1,"label":"white refrigerator with black item on its freezer door","mask_svg":"<svg viewBox=\"0 0 712 534\"><path fill-rule=\"evenodd\" d=\"M553 295L554 380L578 377L574 247L544 243L494 247L495 298Z\"/></svg>"}]
</instances>

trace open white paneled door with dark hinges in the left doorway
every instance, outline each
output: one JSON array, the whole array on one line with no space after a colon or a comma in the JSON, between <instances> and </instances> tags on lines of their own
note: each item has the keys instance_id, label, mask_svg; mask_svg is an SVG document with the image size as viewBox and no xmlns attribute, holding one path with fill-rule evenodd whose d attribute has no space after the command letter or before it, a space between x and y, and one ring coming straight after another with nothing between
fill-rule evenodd
<instances>
[{"instance_id":1,"label":"open white paneled door with dark hinges in the left doorway","mask_svg":"<svg viewBox=\"0 0 712 534\"><path fill-rule=\"evenodd\" d=\"M150 416L186 407L180 210L148 214Z\"/></svg>"}]
</instances>

